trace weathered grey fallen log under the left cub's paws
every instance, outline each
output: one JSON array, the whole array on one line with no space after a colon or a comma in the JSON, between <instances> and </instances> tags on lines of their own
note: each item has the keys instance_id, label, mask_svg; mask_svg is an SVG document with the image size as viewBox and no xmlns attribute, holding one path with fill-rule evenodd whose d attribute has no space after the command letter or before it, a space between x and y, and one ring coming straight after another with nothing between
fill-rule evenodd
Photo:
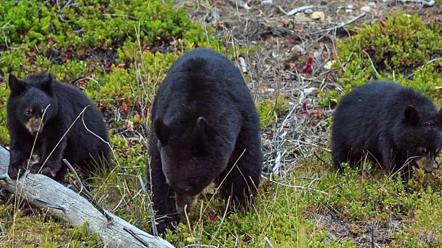
<instances>
[{"instance_id":1,"label":"weathered grey fallen log under the left cub's paws","mask_svg":"<svg viewBox=\"0 0 442 248\"><path fill-rule=\"evenodd\" d=\"M25 174L18 180L8 176L9 152L0 146L0 187L73 226L88 223L86 231L96 232L106 247L173 247L107 211L106 218L86 198L42 174Z\"/></svg>"}]
</instances>

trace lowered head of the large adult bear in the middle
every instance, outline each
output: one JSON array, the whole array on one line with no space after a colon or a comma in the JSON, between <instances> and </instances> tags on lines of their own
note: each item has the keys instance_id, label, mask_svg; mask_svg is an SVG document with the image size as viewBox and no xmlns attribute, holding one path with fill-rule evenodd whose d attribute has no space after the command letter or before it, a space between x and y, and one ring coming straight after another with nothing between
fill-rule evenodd
<instances>
[{"instance_id":1,"label":"lowered head of the large adult bear in the middle","mask_svg":"<svg viewBox=\"0 0 442 248\"><path fill-rule=\"evenodd\" d=\"M218 156L208 139L208 123L200 117L189 125L191 132L166 125L161 119L154 123L157 149L161 154L166 183L175 192L178 214L191 211L198 195L226 168L227 161Z\"/></svg>"}]
</instances>

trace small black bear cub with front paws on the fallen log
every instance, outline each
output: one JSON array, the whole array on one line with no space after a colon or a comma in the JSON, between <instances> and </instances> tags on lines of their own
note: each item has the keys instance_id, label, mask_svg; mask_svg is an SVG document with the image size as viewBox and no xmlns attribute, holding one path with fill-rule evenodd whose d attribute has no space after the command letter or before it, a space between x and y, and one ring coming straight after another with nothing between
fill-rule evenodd
<instances>
[{"instance_id":1,"label":"small black bear cub with front paws on the fallen log","mask_svg":"<svg viewBox=\"0 0 442 248\"><path fill-rule=\"evenodd\" d=\"M67 172L63 158L89 176L98 169L111 168L111 148L104 143L109 141L106 123L78 87L59 83L46 73L23 80L10 74L9 85L10 178L17 178L19 169L21 175L28 169L31 152L39 161L30 165L30 173L45 174L60 183ZM75 121L86 106L84 116Z\"/></svg>"}]
</instances>

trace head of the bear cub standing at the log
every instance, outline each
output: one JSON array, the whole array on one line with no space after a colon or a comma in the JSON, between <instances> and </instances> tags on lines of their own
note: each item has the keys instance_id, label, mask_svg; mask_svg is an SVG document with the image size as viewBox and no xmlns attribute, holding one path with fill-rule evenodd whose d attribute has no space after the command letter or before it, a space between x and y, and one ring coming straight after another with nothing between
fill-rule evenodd
<instances>
[{"instance_id":1,"label":"head of the bear cub standing at the log","mask_svg":"<svg viewBox=\"0 0 442 248\"><path fill-rule=\"evenodd\" d=\"M52 76L38 81L27 79L19 81L14 75L9 76L11 88L10 101L15 101L17 120L32 135L41 132L45 123L57 114L57 100L52 97Z\"/></svg>"}]
</instances>

